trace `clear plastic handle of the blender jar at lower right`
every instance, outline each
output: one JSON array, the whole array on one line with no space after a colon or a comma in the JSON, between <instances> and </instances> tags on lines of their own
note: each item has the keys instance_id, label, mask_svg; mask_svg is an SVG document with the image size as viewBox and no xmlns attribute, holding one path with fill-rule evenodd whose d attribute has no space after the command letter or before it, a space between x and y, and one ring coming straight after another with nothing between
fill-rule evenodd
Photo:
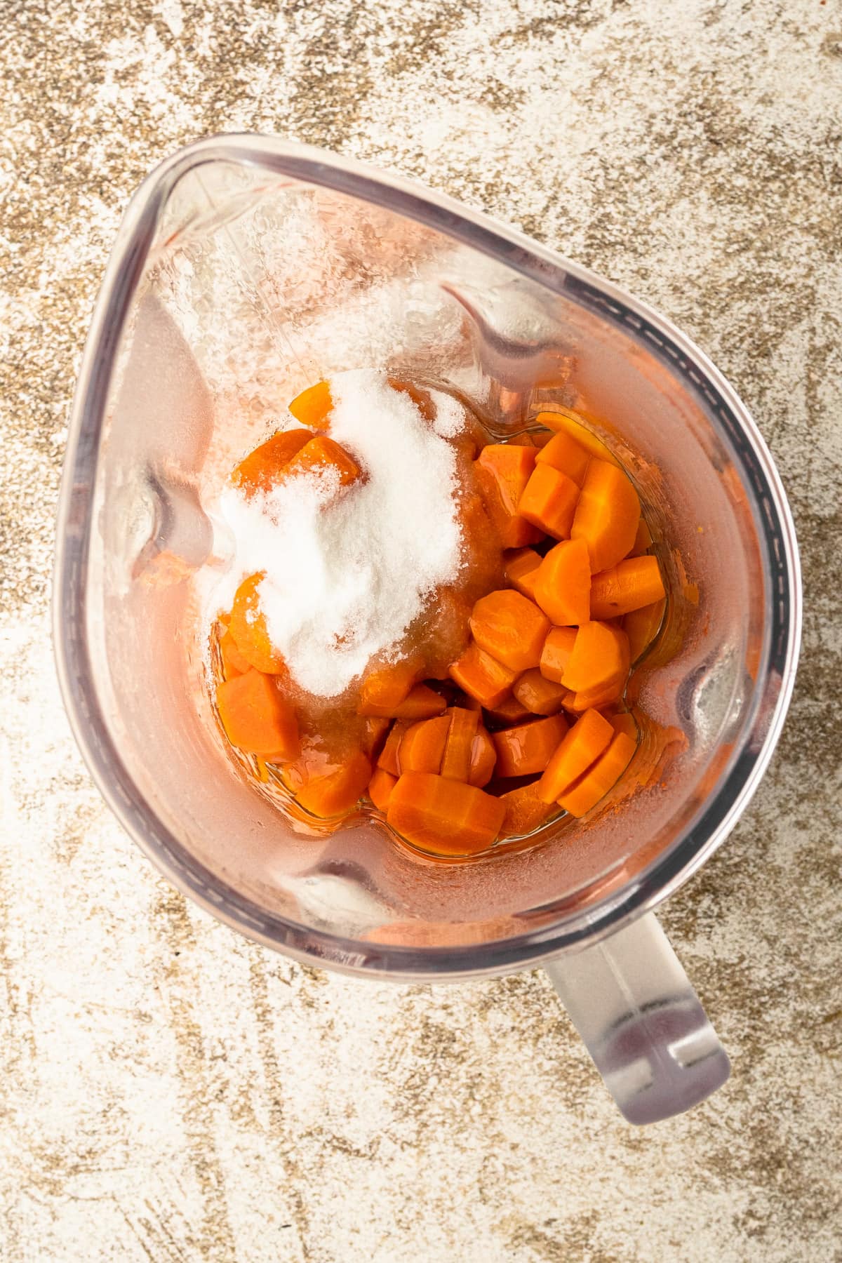
<instances>
[{"instance_id":1,"label":"clear plastic handle of the blender jar at lower right","mask_svg":"<svg viewBox=\"0 0 842 1263\"><path fill-rule=\"evenodd\" d=\"M728 1077L727 1053L654 913L544 967L630 1123L682 1114Z\"/></svg>"}]
</instances>

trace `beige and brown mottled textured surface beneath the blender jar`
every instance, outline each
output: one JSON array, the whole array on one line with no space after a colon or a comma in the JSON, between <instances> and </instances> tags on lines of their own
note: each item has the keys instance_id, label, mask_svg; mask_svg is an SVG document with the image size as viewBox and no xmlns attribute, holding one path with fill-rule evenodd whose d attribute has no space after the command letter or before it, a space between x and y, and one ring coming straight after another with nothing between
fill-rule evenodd
<instances>
[{"instance_id":1,"label":"beige and brown mottled textured surface beneath the blender jar","mask_svg":"<svg viewBox=\"0 0 842 1263\"><path fill-rule=\"evenodd\" d=\"M842 1258L839 9L6 0L0 56L0 1257ZM371 985L235 937L76 753L47 600L91 307L136 183L235 129L391 165L627 284L780 462L804 666L752 808L664 914L733 1060L684 1118L627 1128L540 974Z\"/></svg>"}]
</instances>

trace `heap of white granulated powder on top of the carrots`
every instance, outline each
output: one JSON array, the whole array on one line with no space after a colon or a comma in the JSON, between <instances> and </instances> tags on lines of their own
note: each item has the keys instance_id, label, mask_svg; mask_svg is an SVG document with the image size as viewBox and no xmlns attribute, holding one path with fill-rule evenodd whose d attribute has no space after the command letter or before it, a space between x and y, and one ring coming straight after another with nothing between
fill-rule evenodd
<instances>
[{"instance_id":1,"label":"heap of white granulated powder on top of the carrots","mask_svg":"<svg viewBox=\"0 0 842 1263\"><path fill-rule=\"evenodd\" d=\"M436 392L430 426L369 369L333 378L331 394L331 437L366 481L337 495L336 475L311 474L250 500L227 489L220 512L235 554L213 601L230 609L237 584L265 571L258 591L273 644L300 687L321 697L345 692L372 657L395 655L461 558L446 438L463 426L462 407Z\"/></svg>"}]
</instances>

